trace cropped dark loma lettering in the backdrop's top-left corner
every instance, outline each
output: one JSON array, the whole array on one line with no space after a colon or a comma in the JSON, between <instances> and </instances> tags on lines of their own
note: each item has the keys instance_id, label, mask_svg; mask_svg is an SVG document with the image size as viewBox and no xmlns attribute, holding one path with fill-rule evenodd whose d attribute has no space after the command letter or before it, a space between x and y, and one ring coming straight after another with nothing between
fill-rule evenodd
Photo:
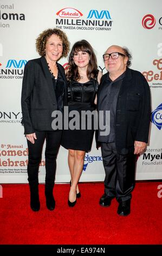
<instances>
[{"instance_id":1,"label":"cropped dark loma lettering in the backdrop's top-left corner","mask_svg":"<svg viewBox=\"0 0 162 256\"><path fill-rule=\"evenodd\" d=\"M14 4L0 4L0 28L10 28L14 22L24 21L23 13L15 13Z\"/></svg>"}]
</instances>

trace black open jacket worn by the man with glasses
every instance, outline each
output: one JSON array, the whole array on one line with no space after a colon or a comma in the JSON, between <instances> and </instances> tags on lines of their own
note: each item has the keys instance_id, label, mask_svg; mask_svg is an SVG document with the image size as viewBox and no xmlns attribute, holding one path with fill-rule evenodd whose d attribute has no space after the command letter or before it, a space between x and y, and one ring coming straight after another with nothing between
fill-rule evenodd
<instances>
[{"instance_id":1,"label":"black open jacket worn by the man with glasses","mask_svg":"<svg viewBox=\"0 0 162 256\"><path fill-rule=\"evenodd\" d=\"M99 86L97 109L99 108L100 92L105 74L101 77ZM151 117L150 87L145 77L136 70L126 70L122 81L116 111L115 143L119 154L134 151L134 141L148 142L148 132ZM98 143L98 134L96 133Z\"/></svg>"}]
</instances>

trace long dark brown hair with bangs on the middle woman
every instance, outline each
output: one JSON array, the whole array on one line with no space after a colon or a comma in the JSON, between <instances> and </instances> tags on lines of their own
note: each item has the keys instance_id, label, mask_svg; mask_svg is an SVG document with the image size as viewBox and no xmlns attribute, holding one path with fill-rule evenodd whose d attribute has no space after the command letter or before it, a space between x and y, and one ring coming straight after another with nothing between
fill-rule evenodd
<instances>
[{"instance_id":1,"label":"long dark brown hair with bangs on the middle woman","mask_svg":"<svg viewBox=\"0 0 162 256\"><path fill-rule=\"evenodd\" d=\"M89 64L87 68L87 77L90 80L91 77L96 78L98 76L98 65L95 53L92 46L86 40L75 42L69 55L69 68L67 71L68 80L80 80L78 68L74 63L74 54L76 52L87 52L89 54Z\"/></svg>"}]
</instances>

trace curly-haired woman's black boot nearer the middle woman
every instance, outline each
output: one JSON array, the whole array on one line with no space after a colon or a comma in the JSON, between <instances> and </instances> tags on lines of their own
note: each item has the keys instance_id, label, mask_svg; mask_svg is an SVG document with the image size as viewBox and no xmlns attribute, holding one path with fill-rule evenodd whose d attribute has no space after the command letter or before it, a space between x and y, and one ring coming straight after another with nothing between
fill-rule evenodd
<instances>
[{"instance_id":1,"label":"curly-haired woman's black boot nearer the middle woman","mask_svg":"<svg viewBox=\"0 0 162 256\"><path fill-rule=\"evenodd\" d=\"M46 196L46 206L47 209L53 211L55 209L55 199L53 196L53 184L45 185L45 196Z\"/></svg>"}]
</instances>

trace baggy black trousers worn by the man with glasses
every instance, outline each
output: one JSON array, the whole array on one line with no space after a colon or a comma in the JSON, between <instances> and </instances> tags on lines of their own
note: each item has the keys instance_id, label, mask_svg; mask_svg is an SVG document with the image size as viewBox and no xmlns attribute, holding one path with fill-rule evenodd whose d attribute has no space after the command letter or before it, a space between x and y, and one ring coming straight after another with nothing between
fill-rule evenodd
<instances>
[{"instance_id":1,"label":"baggy black trousers worn by the man with glasses","mask_svg":"<svg viewBox=\"0 0 162 256\"><path fill-rule=\"evenodd\" d=\"M101 143L103 166L105 168L105 193L116 197L118 202L131 199L135 184L136 155L120 155L115 143Z\"/></svg>"}]
</instances>

